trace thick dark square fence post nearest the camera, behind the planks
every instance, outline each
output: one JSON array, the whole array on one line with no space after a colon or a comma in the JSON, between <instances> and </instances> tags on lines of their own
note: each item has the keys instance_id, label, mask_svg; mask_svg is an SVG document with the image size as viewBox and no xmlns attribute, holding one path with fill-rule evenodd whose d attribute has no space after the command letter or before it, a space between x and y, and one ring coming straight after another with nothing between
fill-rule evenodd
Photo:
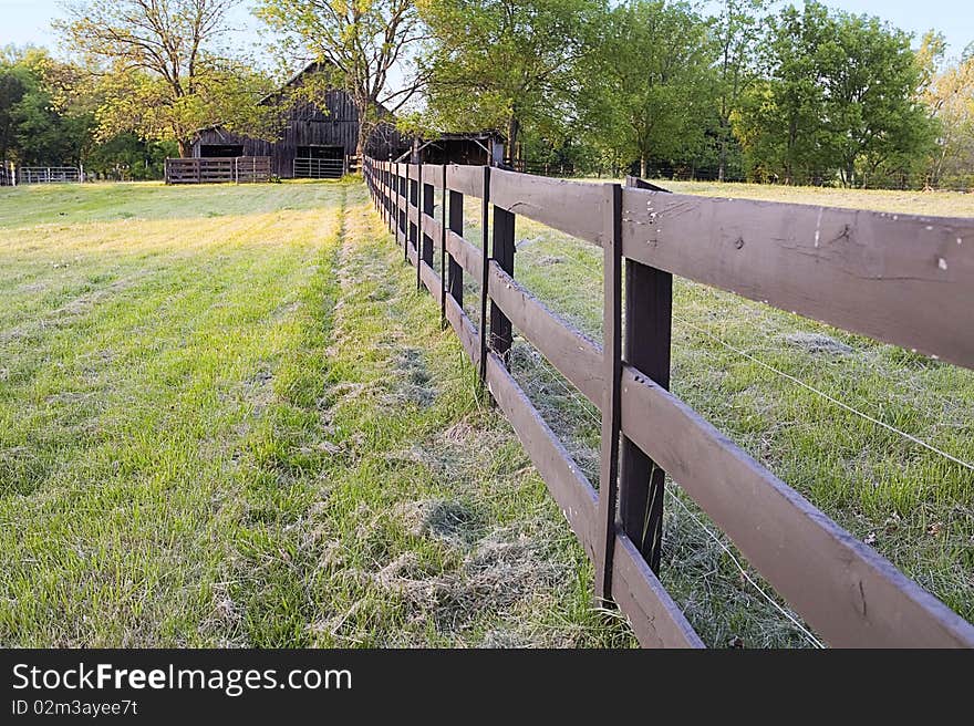
<instances>
[{"instance_id":1,"label":"thick dark square fence post nearest the camera, behind the planks","mask_svg":"<svg viewBox=\"0 0 974 726\"><path fill-rule=\"evenodd\" d=\"M626 178L626 186L645 188L645 183L641 182ZM666 390L670 388L672 314L673 276L634 260L625 260L623 355L626 363ZM621 447L619 516L622 529L643 553L653 572L659 572L666 474L624 435Z\"/></svg>"}]
</instances>

